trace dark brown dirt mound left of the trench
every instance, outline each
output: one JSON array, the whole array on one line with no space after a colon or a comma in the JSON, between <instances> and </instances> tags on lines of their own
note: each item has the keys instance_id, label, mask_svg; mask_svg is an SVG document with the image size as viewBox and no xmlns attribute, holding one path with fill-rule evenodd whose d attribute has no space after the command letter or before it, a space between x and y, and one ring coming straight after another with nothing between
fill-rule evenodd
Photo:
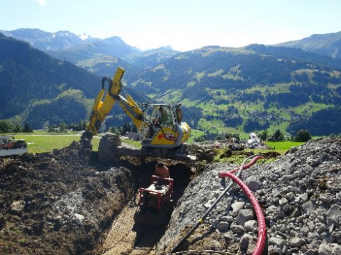
<instances>
[{"instance_id":1,"label":"dark brown dirt mound left of the trench","mask_svg":"<svg viewBox=\"0 0 341 255\"><path fill-rule=\"evenodd\" d=\"M103 169L73 142L0 158L0 254L86 254L132 198L132 174ZM122 188L124 187L124 188Z\"/></svg>"}]
</instances>

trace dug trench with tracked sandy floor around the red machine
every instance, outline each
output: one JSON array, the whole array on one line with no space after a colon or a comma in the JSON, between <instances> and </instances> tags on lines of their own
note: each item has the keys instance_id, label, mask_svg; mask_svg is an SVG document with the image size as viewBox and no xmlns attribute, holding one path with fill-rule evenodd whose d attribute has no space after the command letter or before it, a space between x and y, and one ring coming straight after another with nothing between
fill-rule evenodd
<instances>
[{"instance_id":1,"label":"dug trench with tracked sandy floor around the red machine","mask_svg":"<svg viewBox=\"0 0 341 255\"><path fill-rule=\"evenodd\" d=\"M120 161L120 165L132 172L134 179L135 196L122 209L108 229L102 233L100 243L93 254L118 255L118 254L155 254L160 239L164 236L167 224L164 227L152 227L134 222L134 214L138 210L138 189L147 188L150 178L154 174L154 167L158 161L167 165L170 178L174 180L171 200L165 205L162 213L166 213L166 222L170 221L171 214L177 201L182 197L189 181L194 176L192 165L160 158L133 158L127 157ZM161 210L162 211L162 210Z\"/></svg>"}]
</instances>

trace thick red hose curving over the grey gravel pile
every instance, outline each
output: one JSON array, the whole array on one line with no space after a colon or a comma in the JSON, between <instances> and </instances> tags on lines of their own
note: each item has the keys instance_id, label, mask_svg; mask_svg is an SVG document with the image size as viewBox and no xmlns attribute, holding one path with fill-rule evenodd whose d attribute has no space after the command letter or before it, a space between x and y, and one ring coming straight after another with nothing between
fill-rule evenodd
<instances>
[{"instance_id":1,"label":"thick red hose curving over the grey gravel pile","mask_svg":"<svg viewBox=\"0 0 341 255\"><path fill-rule=\"evenodd\" d=\"M247 165L244 165L243 169L246 169L248 167L251 167L257 161L257 159L262 158L260 156L257 156L253 158L253 160L248 163ZM260 204L258 204L258 201L253 195L253 192L246 186L245 183L241 181L237 176L235 176L233 173L237 171L239 168L236 168L235 170L231 170L229 172L223 172L219 173L219 176L221 177L229 177L232 179L232 181L235 181L239 185L239 187L245 192L248 199L251 201L251 204L253 206L253 209L255 210L255 213L257 215L257 222L258 222L258 239L257 239L257 245L255 249L253 250L252 255L261 255L263 253L264 247L265 247L265 240L267 238L267 225L265 224L264 215L262 212L262 208L260 208Z\"/></svg>"}]
</instances>

